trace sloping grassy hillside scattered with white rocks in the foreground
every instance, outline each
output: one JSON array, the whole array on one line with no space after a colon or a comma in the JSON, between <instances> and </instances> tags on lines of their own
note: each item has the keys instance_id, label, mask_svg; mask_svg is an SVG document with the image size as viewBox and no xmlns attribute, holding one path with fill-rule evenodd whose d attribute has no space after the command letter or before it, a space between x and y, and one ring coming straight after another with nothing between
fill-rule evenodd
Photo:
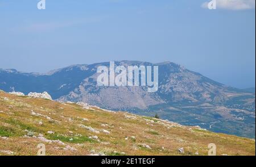
<instances>
[{"instance_id":1,"label":"sloping grassy hillside scattered with white rocks in the foreground","mask_svg":"<svg viewBox=\"0 0 256 167\"><path fill-rule=\"evenodd\" d=\"M255 140L0 91L0 155L255 155ZM177 151L184 148L184 153Z\"/></svg>"}]
</instances>

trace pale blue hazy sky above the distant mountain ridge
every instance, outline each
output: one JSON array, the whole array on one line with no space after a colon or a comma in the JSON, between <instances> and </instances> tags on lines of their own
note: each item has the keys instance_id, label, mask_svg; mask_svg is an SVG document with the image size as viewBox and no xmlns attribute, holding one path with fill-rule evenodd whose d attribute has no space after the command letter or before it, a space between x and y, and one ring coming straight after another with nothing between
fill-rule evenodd
<instances>
[{"instance_id":1,"label":"pale blue hazy sky above the distant mountain ridge","mask_svg":"<svg viewBox=\"0 0 256 167\"><path fill-rule=\"evenodd\" d=\"M255 0L0 0L0 68L171 61L255 87Z\"/></svg>"}]
</instances>

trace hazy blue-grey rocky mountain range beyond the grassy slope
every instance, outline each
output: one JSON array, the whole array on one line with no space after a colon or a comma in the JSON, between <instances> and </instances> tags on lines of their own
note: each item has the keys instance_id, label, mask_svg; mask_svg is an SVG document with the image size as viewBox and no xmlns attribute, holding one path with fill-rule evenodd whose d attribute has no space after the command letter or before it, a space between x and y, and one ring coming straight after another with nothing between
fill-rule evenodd
<instances>
[{"instance_id":1,"label":"hazy blue-grey rocky mountain range beyond the grassy slope","mask_svg":"<svg viewBox=\"0 0 256 167\"><path fill-rule=\"evenodd\" d=\"M47 91L57 101L158 114L187 126L255 138L255 89L226 86L174 62L141 61L115 61L115 65L157 65L158 91L150 93L145 86L97 86L97 68L102 65L109 62L72 65L46 74L0 69L0 89L25 94Z\"/></svg>"}]
</instances>

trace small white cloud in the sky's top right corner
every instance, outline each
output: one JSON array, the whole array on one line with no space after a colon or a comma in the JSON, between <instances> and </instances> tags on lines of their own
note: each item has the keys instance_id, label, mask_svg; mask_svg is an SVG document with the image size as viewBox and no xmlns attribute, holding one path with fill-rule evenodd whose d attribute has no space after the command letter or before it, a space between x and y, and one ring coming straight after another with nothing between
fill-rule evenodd
<instances>
[{"instance_id":1,"label":"small white cloud in the sky's top right corner","mask_svg":"<svg viewBox=\"0 0 256 167\"><path fill-rule=\"evenodd\" d=\"M204 2L201 7L208 9L208 2ZM226 10L248 10L255 9L255 0L216 0L216 9Z\"/></svg>"}]
</instances>

